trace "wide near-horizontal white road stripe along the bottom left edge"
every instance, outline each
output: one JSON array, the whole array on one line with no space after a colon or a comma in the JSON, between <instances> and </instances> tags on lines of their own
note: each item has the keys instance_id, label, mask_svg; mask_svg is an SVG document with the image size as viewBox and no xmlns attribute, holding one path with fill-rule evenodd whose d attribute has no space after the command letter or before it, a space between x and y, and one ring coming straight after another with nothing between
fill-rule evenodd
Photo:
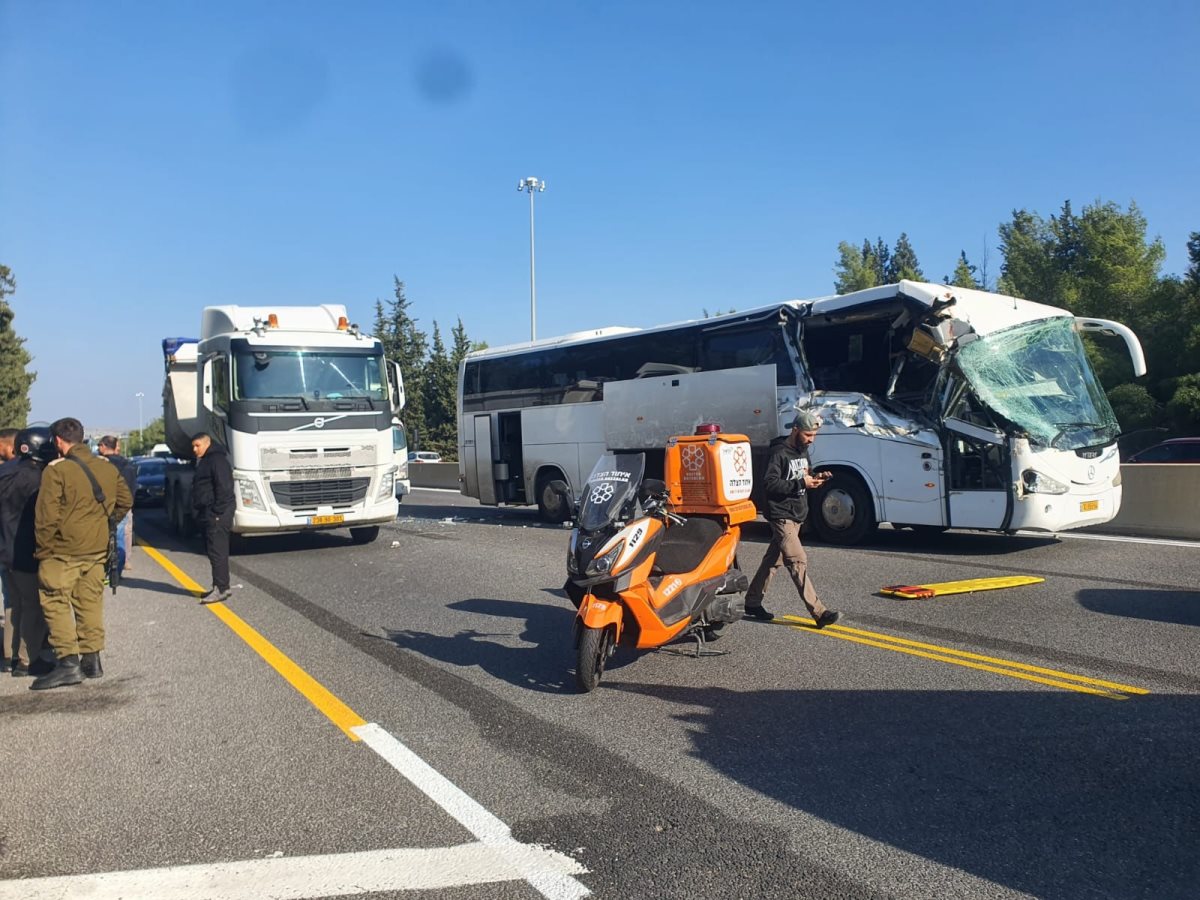
<instances>
[{"instance_id":1,"label":"wide near-horizontal white road stripe along the bottom left edge","mask_svg":"<svg viewBox=\"0 0 1200 900\"><path fill-rule=\"evenodd\" d=\"M508 844L246 859L0 881L0 900L307 900L384 890L436 890L521 881L529 877L529 871L539 869L548 872L552 860L546 854L547 851L540 847L510 840ZM557 875L568 878L564 872Z\"/></svg>"}]
</instances>

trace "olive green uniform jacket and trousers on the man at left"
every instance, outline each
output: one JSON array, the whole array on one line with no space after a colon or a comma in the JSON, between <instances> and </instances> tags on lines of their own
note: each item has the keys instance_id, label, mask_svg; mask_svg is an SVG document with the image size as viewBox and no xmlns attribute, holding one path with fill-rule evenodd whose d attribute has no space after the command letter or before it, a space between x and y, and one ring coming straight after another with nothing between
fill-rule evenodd
<instances>
[{"instance_id":1,"label":"olive green uniform jacket and trousers on the man at left","mask_svg":"<svg viewBox=\"0 0 1200 900\"><path fill-rule=\"evenodd\" d=\"M96 502L86 473L96 478L104 505ZM37 494L37 581L50 647L59 659L104 649L104 559L108 522L133 508L128 485L115 466L76 444L67 458L42 473Z\"/></svg>"}]
</instances>

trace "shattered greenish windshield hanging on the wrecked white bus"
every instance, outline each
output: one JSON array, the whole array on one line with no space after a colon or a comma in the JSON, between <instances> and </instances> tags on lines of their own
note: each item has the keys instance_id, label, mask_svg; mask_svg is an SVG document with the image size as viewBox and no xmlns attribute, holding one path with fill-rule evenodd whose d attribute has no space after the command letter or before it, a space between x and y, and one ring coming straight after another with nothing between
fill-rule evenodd
<instances>
[{"instance_id":1,"label":"shattered greenish windshield hanging on the wrecked white bus","mask_svg":"<svg viewBox=\"0 0 1200 900\"><path fill-rule=\"evenodd\" d=\"M1043 319L980 337L961 344L956 359L979 400L1043 446L1078 450L1121 433L1074 319Z\"/></svg>"}]
</instances>

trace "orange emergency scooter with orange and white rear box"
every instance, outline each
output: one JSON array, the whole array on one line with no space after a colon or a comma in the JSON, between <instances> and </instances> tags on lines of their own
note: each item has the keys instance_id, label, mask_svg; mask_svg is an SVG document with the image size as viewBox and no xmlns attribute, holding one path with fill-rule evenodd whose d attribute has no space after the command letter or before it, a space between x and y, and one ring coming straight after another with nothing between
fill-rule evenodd
<instances>
[{"instance_id":1,"label":"orange emergency scooter with orange and white rear box","mask_svg":"<svg viewBox=\"0 0 1200 900\"><path fill-rule=\"evenodd\" d=\"M666 480L643 478L644 454L605 454L577 504L565 590L578 607L575 678L600 683L618 644L696 641L696 655L744 613L737 568L750 502L750 442L702 425L671 438Z\"/></svg>"}]
</instances>

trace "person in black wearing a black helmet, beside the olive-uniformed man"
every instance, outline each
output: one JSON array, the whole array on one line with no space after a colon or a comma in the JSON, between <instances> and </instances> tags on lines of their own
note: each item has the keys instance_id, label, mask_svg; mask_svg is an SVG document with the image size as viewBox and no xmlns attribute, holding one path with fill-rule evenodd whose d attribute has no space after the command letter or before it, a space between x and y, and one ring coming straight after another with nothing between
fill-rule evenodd
<instances>
[{"instance_id":1,"label":"person in black wearing a black helmet, beside the olive-uniformed man","mask_svg":"<svg viewBox=\"0 0 1200 900\"><path fill-rule=\"evenodd\" d=\"M8 568L13 624L29 655L28 666L14 667L14 676L40 677L54 668L37 590L34 527L42 469L58 456L50 430L35 426L17 434L17 458L0 467L0 564Z\"/></svg>"}]
</instances>

